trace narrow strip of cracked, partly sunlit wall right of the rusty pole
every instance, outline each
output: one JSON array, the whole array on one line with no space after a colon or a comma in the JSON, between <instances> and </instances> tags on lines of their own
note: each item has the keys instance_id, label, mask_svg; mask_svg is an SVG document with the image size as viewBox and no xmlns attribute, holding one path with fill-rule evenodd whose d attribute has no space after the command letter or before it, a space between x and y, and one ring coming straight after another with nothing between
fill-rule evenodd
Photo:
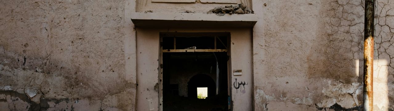
<instances>
[{"instance_id":1,"label":"narrow strip of cracked, partly sunlit wall right of the rusty pole","mask_svg":"<svg viewBox=\"0 0 394 111\"><path fill-rule=\"evenodd\" d=\"M394 1L377 0L375 7L374 108L394 109Z\"/></svg>"}]
</instances>

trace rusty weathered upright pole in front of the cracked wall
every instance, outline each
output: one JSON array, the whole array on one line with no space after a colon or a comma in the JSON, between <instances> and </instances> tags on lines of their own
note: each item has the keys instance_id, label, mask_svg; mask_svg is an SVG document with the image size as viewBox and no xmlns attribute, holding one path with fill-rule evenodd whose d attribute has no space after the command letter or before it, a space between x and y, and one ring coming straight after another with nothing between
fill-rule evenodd
<instances>
[{"instance_id":1,"label":"rusty weathered upright pole in front of the cracked wall","mask_svg":"<svg viewBox=\"0 0 394 111\"><path fill-rule=\"evenodd\" d=\"M364 22L364 111L374 110L374 16L375 1L365 0Z\"/></svg>"}]
</instances>

